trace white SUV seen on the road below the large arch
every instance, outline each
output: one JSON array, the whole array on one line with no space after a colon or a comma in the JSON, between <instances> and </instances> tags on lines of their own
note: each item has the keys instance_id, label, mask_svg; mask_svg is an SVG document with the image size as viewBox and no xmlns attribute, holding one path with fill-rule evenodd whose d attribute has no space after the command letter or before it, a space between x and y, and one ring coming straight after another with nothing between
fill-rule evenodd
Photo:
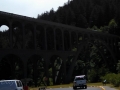
<instances>
[{"instance_id":1,"label":"white SUV seen on the road below the large arch","mask_svg":"<svg viewBox=\"0 0 120 90\"><path fill-rule=\"evenodd\" d=\"M77 87L87 89L87 80L85 75L75 76L73 81L73 89L77 89Z\"/></svg>"}]
</instances>

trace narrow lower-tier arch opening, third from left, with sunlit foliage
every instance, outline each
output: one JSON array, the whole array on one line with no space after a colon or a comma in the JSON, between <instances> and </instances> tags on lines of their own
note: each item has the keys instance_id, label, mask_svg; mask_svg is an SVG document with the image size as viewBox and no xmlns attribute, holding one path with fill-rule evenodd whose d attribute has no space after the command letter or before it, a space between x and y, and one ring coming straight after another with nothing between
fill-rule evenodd
<instances>
[{"instance_id":1,"label":"narrow lower-tier arch opening, third from left, with sunlit foliage","mask_svg":"<svg viewBox=\"0 0 120 90\"><path fill-rule=\"evenodd\" d=\"M50 85L60 84L63 82L62 59L54 55L50 58L49 72L50 72Z\"/></svg>"}]
</instances>

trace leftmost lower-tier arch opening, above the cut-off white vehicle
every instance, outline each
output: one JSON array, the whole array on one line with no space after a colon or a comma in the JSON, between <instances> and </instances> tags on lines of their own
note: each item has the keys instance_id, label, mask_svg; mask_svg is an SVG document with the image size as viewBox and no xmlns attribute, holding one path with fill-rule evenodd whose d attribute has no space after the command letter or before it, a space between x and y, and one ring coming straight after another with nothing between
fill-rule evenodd
<instances>
[{"instance_id":1,"label":"leftmost lower-tier arch opening, above the cut-off white vehicle","mask_svg":"<svg viewBox=\"0 0 120 90\"><path fill-rule=\"evenodd\" d=\"M6 54L0 61L0 68L3 68L2 71L0 70L2 79L23 78L23 61L15 54Z\"/></svg>"}]
</instances>

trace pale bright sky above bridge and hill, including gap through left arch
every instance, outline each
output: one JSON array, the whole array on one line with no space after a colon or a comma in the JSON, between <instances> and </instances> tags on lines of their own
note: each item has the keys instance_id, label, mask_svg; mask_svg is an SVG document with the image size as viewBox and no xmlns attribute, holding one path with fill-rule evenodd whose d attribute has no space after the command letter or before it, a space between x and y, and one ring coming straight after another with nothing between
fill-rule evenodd
<instances>
[{"instance_id":1,"label":"pale bright sky above bridge and hill, including gap through left arch","mask_svg":"<svg viewBox=\"0 0 120 90\"><path fill-rule=\"evenodd\" d=\"M70 0L71 1L71 0ZM68 0L0 0L0 11L36 18L38 14L54 11ZM0 28L2 31L4 26Z\"/></svg>"}]
</instances>

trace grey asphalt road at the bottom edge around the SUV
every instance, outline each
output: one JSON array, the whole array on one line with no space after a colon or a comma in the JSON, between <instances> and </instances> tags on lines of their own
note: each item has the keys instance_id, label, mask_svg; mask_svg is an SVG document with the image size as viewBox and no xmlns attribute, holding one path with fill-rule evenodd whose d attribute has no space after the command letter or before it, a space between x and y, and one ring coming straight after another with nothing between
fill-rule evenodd
<instances>
[{"instance_id":1,"label":"grey asphalt road at the bottom edge around the SUV","mask_svg":"<svg viewBox=\"0 0 120 90\"><path fill-rule=\"evenodd\" d=\"M73 90L73 88L50 88L47 90ZM76 89L76 90L102 90L99 87L88 87L87 89Z\"/></svg>"}]
</instances>

